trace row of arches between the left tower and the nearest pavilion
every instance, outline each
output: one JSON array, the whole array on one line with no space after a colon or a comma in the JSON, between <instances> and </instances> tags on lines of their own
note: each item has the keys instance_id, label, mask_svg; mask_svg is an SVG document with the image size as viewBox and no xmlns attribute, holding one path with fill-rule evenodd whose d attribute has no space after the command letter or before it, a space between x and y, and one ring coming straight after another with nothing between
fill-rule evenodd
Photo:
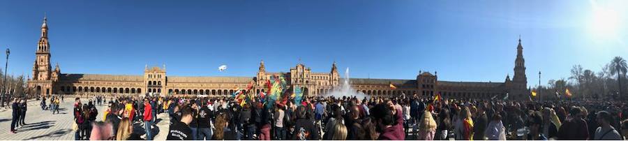
<instances>
[{"instance_id":1,"label":"row of arches between the left tower and the nearest pavilion","mask_svg":"<svg viewBox=\"0 0 628 141\"><path fill-rule=\"evenodd\" d=\"M69 87L61 86L59 90L66 94L73 94L76 92L91 92L91 93L121 93L121 94L141 94L140 88L122 88L122 87Z\"/></svg>"}]
</instances>

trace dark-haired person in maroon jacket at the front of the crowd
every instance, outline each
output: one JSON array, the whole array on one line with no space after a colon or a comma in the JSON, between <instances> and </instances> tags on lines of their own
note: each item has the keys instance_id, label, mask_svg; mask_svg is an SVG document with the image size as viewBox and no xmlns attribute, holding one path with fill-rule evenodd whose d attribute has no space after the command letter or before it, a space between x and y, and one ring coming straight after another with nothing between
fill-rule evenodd
<instances>
[{"instance_id":1,"label":"dark-haired person in maroon jacket at the front of the crowd","mask_svg":"<svg viewBox=\"0 0 628 141\"><path fill-rule=\"evenodd\" d=\"M380 133L378 140L405 140L403 114L391 101L377 104L369 112L373 117L375 130Z\"/></svg>"}]
</instances>

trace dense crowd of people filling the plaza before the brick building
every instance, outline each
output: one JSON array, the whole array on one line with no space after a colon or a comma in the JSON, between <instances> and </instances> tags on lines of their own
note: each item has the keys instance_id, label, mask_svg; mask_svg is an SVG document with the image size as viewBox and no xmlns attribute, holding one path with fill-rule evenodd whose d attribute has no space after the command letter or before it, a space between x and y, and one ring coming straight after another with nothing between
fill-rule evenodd
<instances>
[{"instance_id":1,"label":"dense crowd of people filling the plaza before the brick building","mask_svg":"<svg viewBox=\"0 0 628 141\"><path fill-rule=\"evenodd\" d=\"M628 105L611 101L328 96L269 104L257 97L246 103L229 97L117 97L110 99L103 121L94 121L98 112L89 101L75 103L76 140L152 140L160 113L170 117L167 140L624 140L628 135L623 115ZM134 124L144 133L135 133Z\"/></svg>"}]
</instances>

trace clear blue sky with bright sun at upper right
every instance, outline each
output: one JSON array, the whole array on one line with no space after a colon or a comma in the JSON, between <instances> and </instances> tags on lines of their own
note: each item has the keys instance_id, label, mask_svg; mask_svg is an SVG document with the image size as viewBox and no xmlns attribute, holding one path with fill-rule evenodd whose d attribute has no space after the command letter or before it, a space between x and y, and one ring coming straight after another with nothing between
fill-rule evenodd
<instances>
[{"instance_id":1,"label":"clear blue sky with bright sun at upper right","mask_svg":"<svg viewBox=\"0 0 628 141\"><path fill-rule=\"evenodd\" d=\"M351 77L438 71L439 80L503 82L521 35L535 86L539 71L546 84L569 77L574 64L599 71L612 57L628 59L622 6L628 2L2 1L0 48L12 51L10 74L31 74L46 13L62 73L141 75L144 64L166 64L168 75L254 76L260 59L273 72L301 59L315 72L336 61Z\"/></svg>"}]
</instances>

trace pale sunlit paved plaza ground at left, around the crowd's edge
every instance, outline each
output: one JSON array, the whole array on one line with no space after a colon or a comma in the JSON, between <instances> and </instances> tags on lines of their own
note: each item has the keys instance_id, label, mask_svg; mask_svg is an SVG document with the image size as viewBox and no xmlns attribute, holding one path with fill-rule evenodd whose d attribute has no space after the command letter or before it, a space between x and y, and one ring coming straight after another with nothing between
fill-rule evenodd
<instances>
[{"instance_id":1,"label":"pale sunlit paved plaza ground at left, around the crowd's edge","mask_svg":"<svg viewBox=\"0 0 628 141\"><path fill-rule=\"evenodd\" d=\"M24 120L27 125L17 128L17 133L10 133L11 109L0 108L0 140L74 140L75 131L72 130L74 122L73 104L74 98L66 97L59 106L59 114L52 114L50 110L41 110L40 101L29 100L27 116ZM82 103L87 103L86 98L81 98ZM98 117L96 121L103 119L106 105L96 105ZM167 114L158 114L158 123L153 127L156 133L154 140L165 140L170 118ZM144 138L144 129L141 124L134 125L134 132Z\"/></svg>"}]
</instances>

